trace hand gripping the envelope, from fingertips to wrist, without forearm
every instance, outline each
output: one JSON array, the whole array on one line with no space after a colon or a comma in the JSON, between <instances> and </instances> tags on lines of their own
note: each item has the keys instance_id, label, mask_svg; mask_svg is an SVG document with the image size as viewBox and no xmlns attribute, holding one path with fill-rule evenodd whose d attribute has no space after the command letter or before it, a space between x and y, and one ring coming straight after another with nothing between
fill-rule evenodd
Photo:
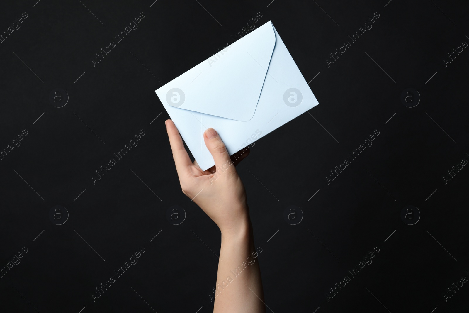
<instances>
[{"instance_id":1,"label":"hand gripping the envelope, from fingertips to wrist, without forearm","mask_svg":"<svg viewBox=\"0 0 469 313\"><path fill-rule=\"evenodd\" d=\"M165 124L182 192L218 225L222 236L245 233L250 226L249 208L244 185L234 167L249 154L249 148L230 157L217 132L209 128L204 132L204 141L215 166L202 171L197 161L191 162L173 121L166 120Z\"/></svg>"}]
</instances>

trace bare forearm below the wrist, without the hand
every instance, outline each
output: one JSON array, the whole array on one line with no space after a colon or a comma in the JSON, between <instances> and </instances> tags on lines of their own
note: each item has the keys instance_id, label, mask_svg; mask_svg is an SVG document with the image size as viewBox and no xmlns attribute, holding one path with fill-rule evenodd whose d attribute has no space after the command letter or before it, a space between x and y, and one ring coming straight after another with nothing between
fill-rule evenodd
<instances>
[{"instance_id":1,"label":"bare forearm below the wrist, without the hand","mask_svg":"<svg viewBox=\"0 0 469 313\"><path fill-rule=\"evenodd\" d=\"M264 292L249 217L222 232L214 313L264 313Z\"/></svg>"}]
</instances>

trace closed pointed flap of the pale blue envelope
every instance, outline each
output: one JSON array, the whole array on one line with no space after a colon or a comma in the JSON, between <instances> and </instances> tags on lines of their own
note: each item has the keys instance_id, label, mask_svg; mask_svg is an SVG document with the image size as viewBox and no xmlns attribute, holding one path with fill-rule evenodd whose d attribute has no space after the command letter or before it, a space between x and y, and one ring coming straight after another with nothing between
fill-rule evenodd
<instances>
[{"instance_id":1,"label":"closed pointed flap of the pale blue envelope","mask_svg":"<svg viewBox=\"0 0 469 313\"><path fill-rule=\"evenodd\" d=\"M249 121L256 111L274 46L275 32L269 21L160 87L157 94L160 99L171 99L172 89L178 88L184 93L182 104L164 101L163 105Z\"/></svg>"}]
</instances>

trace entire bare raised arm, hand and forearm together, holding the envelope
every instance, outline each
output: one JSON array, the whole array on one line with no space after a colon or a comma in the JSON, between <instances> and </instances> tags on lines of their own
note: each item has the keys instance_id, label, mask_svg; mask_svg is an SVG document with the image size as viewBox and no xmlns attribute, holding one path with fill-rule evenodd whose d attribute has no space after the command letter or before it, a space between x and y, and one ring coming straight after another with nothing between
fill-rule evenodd
<instances>
[{"instance_id":1,"label":"entire bare raised arm, hand and forearm together, holding the envelope","mask_svg":"<svg viewBox=\"0 0 469 313\"><path fill-rule=\"evenodd\" d=\"M213 312L265 313L246 191L235 169L249 154L249 148L230 157L218 133L209 128L204 132L204 141L215 166L203 171L197 161L190 160L173 121L166 120L165 124L182 192L202 208L221 232ZM242 271L238 270L235 276L235 269L240 267Z\"/></svg>"}]
</instances>

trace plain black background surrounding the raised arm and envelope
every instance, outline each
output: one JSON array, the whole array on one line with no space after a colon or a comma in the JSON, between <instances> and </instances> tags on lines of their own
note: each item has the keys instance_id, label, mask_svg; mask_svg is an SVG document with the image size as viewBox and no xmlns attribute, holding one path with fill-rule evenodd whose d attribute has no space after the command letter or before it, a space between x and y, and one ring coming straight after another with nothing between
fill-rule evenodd
<instances>
[{"instance_id":1,"label":"plain black background surrounding the raised arm and envelope","mask_svg":"<svg viewBox=\"0 0 469 313\"><path fill-rule=\"evenodd\" d=\"M198 2L2 4L0 32L28 17L0 44L1 151L28 135L0 161L0 267L28 252L0 278L0 310L212 311L219 229L182 194L154 90L233 42L258 12L256 25L272 20L319 101L257 141L237 167L263 249L267 311L464 310L467 284L447 302L443 293L469 277L469 169L446 185L443 176L469 160L469 52L443 60L469 42L467 1ZM140 12L138 28L93 67ZM372 29L328 67L375 12ZM56 88L68 93L64 107L49 101ZM407 88L420 93L416 107L401 102ZM93 185L95 171L142 129L138 146ZM328 184L374 130L373 145ZM68 210L63 225L49 218L56 205ZM174 205L187 214L180 225L166 219ZM297 225L283 218L289 205L303 210ZM401 219L407 205L421 213L414 225ZM140 247L138 263L93 302ZM373 262L328 302L375 247Z\"/></svg>"}]
</instances>

